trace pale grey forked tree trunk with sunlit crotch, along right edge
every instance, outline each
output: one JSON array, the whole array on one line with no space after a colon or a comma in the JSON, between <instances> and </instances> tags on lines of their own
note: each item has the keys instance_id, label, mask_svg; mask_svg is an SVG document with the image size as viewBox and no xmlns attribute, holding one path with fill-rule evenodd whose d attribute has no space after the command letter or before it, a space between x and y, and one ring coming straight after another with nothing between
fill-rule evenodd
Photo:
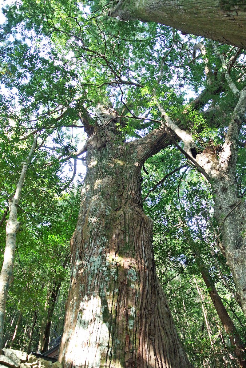
<instances>
[{"instance_id":1,"label":"pale grey forked tree trunk with sunlit crotch, along right edge","mask_svg":"<svg viewBox=\"0 0 246 368\"><path fill-rule=\"evenodd\" d=\"M225 68L224 62L222 65ZM184 149L179 146L181 152L196 164L198 170L211 184L214 216L218 221L218 233L222 234L223 241L222 243L218 239L218 245L227 258L236 285L238 301L246 316L246 204L238 197L236 182L239 134L246 113L246 89L239 92L226 71L225 77L233 94L238 98L238 103L230 117L219 157L213 145L208 145L202 153L196 154L198 147L192 136L180 129L161 106L159 109L167 127L185 143Z\"/></svg>"}]
</instances>

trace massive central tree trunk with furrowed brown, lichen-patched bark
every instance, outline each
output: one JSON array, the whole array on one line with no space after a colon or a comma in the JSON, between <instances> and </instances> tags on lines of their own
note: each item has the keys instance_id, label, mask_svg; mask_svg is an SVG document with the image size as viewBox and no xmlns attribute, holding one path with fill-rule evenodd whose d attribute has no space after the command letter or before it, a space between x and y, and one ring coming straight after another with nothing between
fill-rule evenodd
<instances>
[{"instance_id":1,"label":"massive central tree trunk with furrowed brown, lichen-patched bark","mask_svg":"<svg viewBox=\"0 0 246 368\"><path fill-rule=\"evenodd\" d=\"M89 139L59 361L64 368L191 367L157 279L152 222L142 208L144 142L120 142L113 117L101 114L107 127Z\"/></svg>"}]
</instances>

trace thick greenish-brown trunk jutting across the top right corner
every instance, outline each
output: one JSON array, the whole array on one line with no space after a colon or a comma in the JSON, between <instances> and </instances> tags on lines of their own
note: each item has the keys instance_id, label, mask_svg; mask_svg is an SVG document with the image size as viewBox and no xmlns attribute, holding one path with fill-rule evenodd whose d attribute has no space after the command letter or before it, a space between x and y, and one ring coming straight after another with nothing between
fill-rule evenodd
<instances>
[{"instance_id":1,"label":"thick greenish-brown trunk jutting across the top right corner","mask_svg":"<svg viewBox=\"0 0 246 368\"><path fill-rule=\"evenodd\" d=\"M124 21L157 22L246 48L245 0L120 0L109 15Z\"/></svg>"}]
</instances>

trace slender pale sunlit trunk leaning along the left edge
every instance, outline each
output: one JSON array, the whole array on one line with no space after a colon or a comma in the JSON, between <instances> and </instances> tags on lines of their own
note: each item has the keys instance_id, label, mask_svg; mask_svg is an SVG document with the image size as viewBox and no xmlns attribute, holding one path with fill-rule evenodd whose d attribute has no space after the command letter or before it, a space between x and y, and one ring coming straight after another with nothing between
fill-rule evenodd
<instances>
[{"instance_id":1,"label":"slender pale sunlit trunk leaning along the left edge","mask_svg":"<svg viewBox=\"0 0 246 368\"><path fill-rule=\"evenodd\" d=\"M6 246L4 251L3 267L0 273L0 354L3 348L3 327L6 313L6 300L8 295L8 289L11 282L13 281L13 266L14 266L14 255L16 247L16 233L19 229L20 223L17 219L17 208L19 200L21 198L21 191L24 185L24 180L26 176L26 171L28 169L28 164L33 156L36 148L38 136L33 141L33 145L26 157L21 175L16 187L16 191L13 198L9 199L9 212L10 216L7 220L6 226Z\"/></svg>"}]
</instances>

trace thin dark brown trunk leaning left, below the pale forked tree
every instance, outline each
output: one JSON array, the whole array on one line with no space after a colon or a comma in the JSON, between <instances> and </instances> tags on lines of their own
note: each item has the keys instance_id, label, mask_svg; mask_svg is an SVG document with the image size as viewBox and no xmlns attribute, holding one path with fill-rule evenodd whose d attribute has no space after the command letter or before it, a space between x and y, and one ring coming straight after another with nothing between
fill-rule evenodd
<instances>
[{"instance_id":1,"label":"thin dark brown trunk leaning left, below the pale forked tree","mask_svg":"<svg viewBox=\"0 0 246 368\"><path fill-rule=\"evenodd\" d=\"M225 309L224 304L222 303L222 300L214 286L213 280L211 279L211 276L198 252L196 252L195 258L203 280L207 286L208 293L211 297L214 308L218 313L225 332L228 334L235 355L238 358L238 367L246 368L245 348L242 344L240 336L238 335L236 327L228 315L227 310Z\"/></svg>"}]
</instances>

